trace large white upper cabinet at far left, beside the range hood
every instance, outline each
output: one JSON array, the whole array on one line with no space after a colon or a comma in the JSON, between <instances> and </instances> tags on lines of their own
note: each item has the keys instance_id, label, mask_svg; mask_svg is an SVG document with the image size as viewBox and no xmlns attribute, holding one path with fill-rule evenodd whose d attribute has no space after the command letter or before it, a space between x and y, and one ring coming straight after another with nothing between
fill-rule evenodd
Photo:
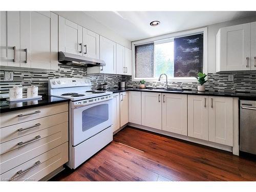
<instances>
[{"instance_id":1,"label":"large white upper cabinet at far left, beside the range hood","mask_svg":"<svg viewBox=\"0 0 256 192\"><path fill-rule=\"evenodd\" d=\"M2 31L5 32L2 34ZM1 12L2 66L56 70L57 52L56 14L50 11Z\"/></svg>"}]
</instances>

